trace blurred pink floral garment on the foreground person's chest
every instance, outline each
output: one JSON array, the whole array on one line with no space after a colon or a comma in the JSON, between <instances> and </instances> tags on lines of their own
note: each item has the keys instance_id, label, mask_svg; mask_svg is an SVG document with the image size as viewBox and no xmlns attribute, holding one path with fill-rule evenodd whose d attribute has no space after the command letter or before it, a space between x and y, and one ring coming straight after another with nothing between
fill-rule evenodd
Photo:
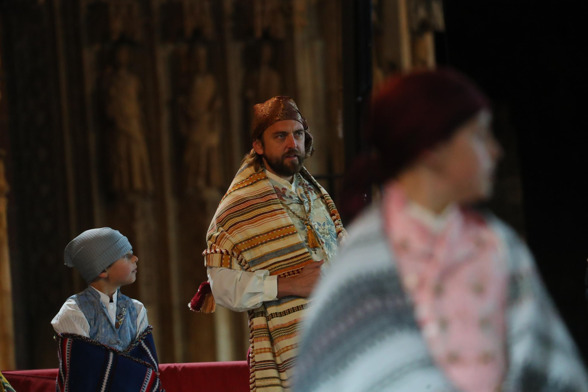
<instances>
[{"instance_id":1,"label":"blurred pink floral garment on the foreground person's chest","mask_svg":"<svg viewBox=\"0 0 588 392\"><path fill-rule=\"evenodd\" d=\"M475 211L453 207L423 219L397 184L383 202L399 273L437 366L463 391L500 390L508 285L499 238Z\"/></svg>"}]
</instances>

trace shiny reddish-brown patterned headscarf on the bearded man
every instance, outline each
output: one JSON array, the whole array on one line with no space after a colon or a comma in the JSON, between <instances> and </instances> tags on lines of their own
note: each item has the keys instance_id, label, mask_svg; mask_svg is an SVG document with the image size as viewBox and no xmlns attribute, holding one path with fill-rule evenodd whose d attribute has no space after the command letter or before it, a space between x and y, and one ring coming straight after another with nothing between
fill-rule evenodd
<instances>
[{"instance_id":1,"label":"shiny reddish-brown patterned headscarf on the bearded man","mask_svg":"<svg viewBox=\"0 0 588 392\"><path fill-rule=\"evenodd\" d=\"M300 114L296 102L292 98L284 97L283 95L270 98L263 104L257 104L253 107L253 124L251 126L253 141L258 139L263 134L263 131L271 125L285 119L293 119L302 124L305 133L306 158L312 156L315 149L312 147L312 134L310 134L308 125L306 125L306 119Z\"/></svg>"}]
</instances>

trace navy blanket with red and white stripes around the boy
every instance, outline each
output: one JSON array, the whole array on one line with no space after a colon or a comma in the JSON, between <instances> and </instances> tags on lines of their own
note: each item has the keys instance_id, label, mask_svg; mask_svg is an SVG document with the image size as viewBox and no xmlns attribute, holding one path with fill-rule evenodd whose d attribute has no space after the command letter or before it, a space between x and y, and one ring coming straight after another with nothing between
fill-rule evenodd
<instances>
[{"instance_id":1,"label":"navy blanket with red and white stripes around the boy","mask_svg":"<svg viewBox=\"0 0 588 392\"><path fill-rule=\"evenodd\" d=\"M58 334L57 392L128 391L165 392L159 381L159 363L152 327L125 351L76 334Z\"/></svg>"}]
</instances>

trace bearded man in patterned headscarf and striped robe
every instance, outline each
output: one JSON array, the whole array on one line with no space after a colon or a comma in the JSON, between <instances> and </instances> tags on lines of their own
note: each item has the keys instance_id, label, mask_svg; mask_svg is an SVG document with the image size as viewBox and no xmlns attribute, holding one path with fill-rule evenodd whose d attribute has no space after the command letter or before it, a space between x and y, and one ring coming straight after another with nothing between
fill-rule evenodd
<instances>
[{"instance_id":1,"label":"bearded man in patterned headscarf and striped robe","mask_svg":"<svg viewBox=\"0 0 588 392\"><path fill-rule=\"evenodd\" d=\"M274 392L290 387L308 297L346 232L303 166L312 135L292 98L255 105L252 139L209 227L208 282L191 308L248 311L250 388Z\"/></svg>"}]
</instances>

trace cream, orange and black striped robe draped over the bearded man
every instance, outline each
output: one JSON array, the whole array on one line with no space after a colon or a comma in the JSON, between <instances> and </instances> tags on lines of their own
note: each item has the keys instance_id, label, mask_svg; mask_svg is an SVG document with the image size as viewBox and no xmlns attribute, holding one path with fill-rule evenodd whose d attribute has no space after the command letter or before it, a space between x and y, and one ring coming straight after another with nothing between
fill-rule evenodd
<instances>
[{"instance_id":1,"label":"cream, orange and black striped robe draped over the bearded man","mask_svg":"<svg viewBox=\"0 0 588 392\"><path fill-rule=\"evenodd\" d=\"M346 236L335 204L318 182L302 168L300 175L322 193L338 239ZM206 236L207 267L269 270L289 277L313 263L302 237L282 207L265 172L245 164L220 201ZM250 310L250 389L274 392L288 389L296 364L300 321L310 301L290 296L267 301Z\"/></svg>"}]
</instances>

